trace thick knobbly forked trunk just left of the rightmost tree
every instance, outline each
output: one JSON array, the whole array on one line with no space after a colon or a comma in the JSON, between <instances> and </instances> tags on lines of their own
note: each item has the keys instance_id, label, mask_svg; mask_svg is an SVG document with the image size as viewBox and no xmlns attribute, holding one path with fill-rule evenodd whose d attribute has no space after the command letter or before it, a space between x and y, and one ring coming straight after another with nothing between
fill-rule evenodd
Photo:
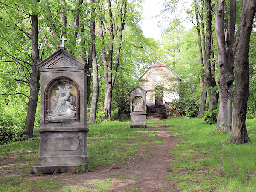
<instances>
[{"instance_id":1,"label":"thick knobbly forked trunk just left of the rightmost tree","mask_svg":"<svg viewBox=\"0 0 256 192\"><path fill-rule=\"evenodd\" d=\"M230 0L230 25L227 21L227 5L223 0L217 1L217 15L215 17L215 33L218 44L218 68L219 68L219 114L216 131L231 131L233 99L233 45L234 29L236 21L236 0Z\"/></svg>"}]
</instances>

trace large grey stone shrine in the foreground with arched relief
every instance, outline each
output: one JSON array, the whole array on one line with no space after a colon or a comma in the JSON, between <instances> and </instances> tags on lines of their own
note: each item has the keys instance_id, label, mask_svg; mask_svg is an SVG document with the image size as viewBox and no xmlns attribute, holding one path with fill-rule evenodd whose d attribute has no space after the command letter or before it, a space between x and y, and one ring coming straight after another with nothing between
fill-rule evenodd
<instances>
[{"instance_id":1,"label":"large grey stone shrine in the foreground with arched relief","mask_svg":"<svg viewBox=\"0 0 256 192\"><path fill-rule=\"evenodd\" d=\"M38 64L40 156L31 173L76 172L88 165L87 64L64 48Z\"/></svg>"}]
</instances>

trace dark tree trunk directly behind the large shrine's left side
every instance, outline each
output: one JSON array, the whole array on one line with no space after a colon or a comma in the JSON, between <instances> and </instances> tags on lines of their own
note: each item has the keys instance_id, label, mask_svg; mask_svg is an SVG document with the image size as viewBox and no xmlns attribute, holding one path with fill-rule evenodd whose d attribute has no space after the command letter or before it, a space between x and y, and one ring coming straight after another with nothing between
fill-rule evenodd
<instances>
[{"instance_id":1,"label":"dark tree trunk directly behind the large shrine's left side","mask_svg":"<svg viewBox=\"0 0 256 192\"><path fill-rule=\"evenodd\" d=\"M33 137L33 129L35 122L35 112L38 102L38 92L40 88L39 79L40 73L37 68L39 62L39 49L38 49L38 16L31 15L31 47L32 47L32 73L29 80L29 102L28 102L28 112L26 116L26 122L24 125L24 138L30 139Z\"/></svg>"}]
</instances>

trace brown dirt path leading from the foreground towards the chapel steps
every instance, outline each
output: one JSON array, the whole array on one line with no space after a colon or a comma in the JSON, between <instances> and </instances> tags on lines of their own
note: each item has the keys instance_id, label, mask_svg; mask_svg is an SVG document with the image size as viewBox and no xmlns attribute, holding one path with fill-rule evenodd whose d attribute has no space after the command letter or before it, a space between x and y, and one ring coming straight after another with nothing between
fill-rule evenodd
<instances>
[{"instance_id":1,"label":"brown dirt path leading from the foreground towards the chapel steps","mask_svg":"<svg viewBox=\"0 0 256 192\"><path fill-rule=\"evenodd\" d=\"M107 191L175 191L170 186L165 175L168 173L172 157L169 152L178 142L176 137L167 133L166 127L156 125L158 130L157 141L163 143L149 143L142 148L138 158L122 160L105 167L98 167L93 172L81 174L56 175L62 186L76 186L78 189L87 186L88 189L100 190L105 187ZM80 188L80 189L81 189Z\"/></svg>"}]
</instances>

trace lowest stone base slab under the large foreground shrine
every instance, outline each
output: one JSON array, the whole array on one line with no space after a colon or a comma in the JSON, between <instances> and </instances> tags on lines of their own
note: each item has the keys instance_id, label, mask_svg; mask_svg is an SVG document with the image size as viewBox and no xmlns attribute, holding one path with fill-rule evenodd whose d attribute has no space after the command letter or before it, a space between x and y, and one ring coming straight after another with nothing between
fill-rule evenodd
<instances>
[{"instance_id":1,"label":"lowest stone base slab under the large foreground shrine","mask_svg":"<svg viewBox=\"0 0 256 192\"><path fill-rule=\"evenodd\" d=\"M30 167L30 173L67 173L76 172L76 166L78 165L47 165L47 166L32 166Z\"/></svg>"}]
</instances>

